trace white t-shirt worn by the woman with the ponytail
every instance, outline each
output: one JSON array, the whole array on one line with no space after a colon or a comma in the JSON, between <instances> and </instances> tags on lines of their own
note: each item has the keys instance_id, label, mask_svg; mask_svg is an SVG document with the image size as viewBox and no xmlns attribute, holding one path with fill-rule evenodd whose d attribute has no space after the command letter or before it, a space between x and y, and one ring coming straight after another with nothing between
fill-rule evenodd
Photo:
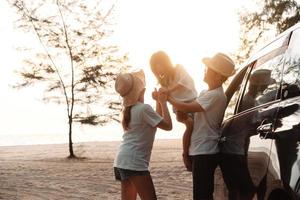
<instances>
[{"instance_id":1,"label":"white t-shirt worn by the woman with the ponytail","mask_svg":"<svg viewBox=\"0 0 300 200\"><path fill-rule=\"evenodd\" d=\"M114 167L148 170L156 127L162 117L148 104L137 103L131 108L129 130L123 135Z\"/></svg>"}]
</instances>

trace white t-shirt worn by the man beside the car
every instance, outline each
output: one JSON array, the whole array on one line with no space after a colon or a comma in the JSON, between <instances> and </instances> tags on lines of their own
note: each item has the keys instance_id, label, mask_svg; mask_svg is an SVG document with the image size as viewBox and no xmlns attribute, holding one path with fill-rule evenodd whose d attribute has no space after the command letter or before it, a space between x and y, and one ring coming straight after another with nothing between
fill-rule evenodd
<instances>
[{"instance_id":1,"label":"white t-shirt worn by the man beside the car","mask_svg":"<svg viewBox=\"0 0 300 200\"><path fill-rule=\"evenodd\" d=\"M226 109L227 97L222 87L205 90L196 101L204 109L194 115L189 155L216 154L221 134L221 123Z\"/></svg>"}]
</instances>

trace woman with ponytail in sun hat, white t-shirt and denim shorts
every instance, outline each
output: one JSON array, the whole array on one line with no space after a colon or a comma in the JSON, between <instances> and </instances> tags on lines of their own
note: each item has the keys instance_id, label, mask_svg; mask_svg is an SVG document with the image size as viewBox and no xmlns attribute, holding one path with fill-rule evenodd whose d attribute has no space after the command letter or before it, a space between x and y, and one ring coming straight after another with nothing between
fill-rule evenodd
<instances>
[{"instance_id":1,"label":"woman with ponytail in sun hat, white t-shirt and denim shorts","mask_svg":"<svg viewBox=\"0 0 300 200\"><path fill-rule=\"evenodd\" d=\"M115 177L121 181L121 199L155 200L156 194L148 171L156 128L172 129L167 96L157 94L160 113L144 104L145 76L143 71L120 74L116 91L123 97L123 142L114 162Z\"/></svg>"}]
</instances>

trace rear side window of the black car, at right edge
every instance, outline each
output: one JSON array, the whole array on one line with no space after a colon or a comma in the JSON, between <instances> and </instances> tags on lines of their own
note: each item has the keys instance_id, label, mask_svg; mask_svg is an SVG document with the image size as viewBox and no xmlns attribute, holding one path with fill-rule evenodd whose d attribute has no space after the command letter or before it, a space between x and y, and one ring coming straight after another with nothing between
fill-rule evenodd
<instances>
[{"instance_id":1,"label":"rear side window of the black car, at right edge","mask_svg":"<svg viewBox=\"0 0 300 200\"><path fill-rule=\"evenodd\" d=\"M286 53L286 62L282 79L282 97L291 98L300 95L300 29L293 32Z\"/></svg>"}]
</instances>

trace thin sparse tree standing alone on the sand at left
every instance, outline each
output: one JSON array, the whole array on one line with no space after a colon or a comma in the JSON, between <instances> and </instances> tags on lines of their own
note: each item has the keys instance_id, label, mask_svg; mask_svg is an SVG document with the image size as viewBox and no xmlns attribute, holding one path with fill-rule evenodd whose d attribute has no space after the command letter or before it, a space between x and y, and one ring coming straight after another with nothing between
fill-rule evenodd
<instances>
[{"instance_id":1,"label":"thin sparse tree standing alone on the sand at left","mask_svg":"<svg viewBox=\"0 0 300 200\"><path fill-rule=\"evenodd\" d=\"M104 102L105 113L84 111L84 107L104 101L115 75L127 68L127 56L108 42L113 33L114 4L100 0L12 0L9 3L19 16L16 27L24 33L33 32L43 49L25 48L34 57L25 58L24 68L18 71L21 82L15 87L43 83L44 101L65 104L69 158L74 158L73 122L97 125L118 119L116 111L120 110L120 102L111 99Z\"/></svg>"}]
</instances>

